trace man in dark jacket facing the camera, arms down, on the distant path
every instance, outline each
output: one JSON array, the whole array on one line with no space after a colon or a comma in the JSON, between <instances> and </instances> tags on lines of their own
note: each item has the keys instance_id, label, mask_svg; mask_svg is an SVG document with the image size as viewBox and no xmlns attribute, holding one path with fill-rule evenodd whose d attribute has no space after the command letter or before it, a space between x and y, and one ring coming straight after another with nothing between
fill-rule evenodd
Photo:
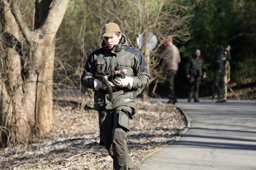
<instances>
[{"instance_id":1,"label":"man in dark jacket facing the camera, arms down, on the distant path","mask_svg":"<svg viewBox=\"0 0 256 170\"><path fill-rule=\"evenodd\" d=\"M204 61L200 57L201 51L197 49L193 56L189 58L186 65L186 77L189 79L189 92L188 92L188 102L191 102L194 96L194 102L199 102L198 93L199 85L201 83L201 77L206 78L206 69L204 66Z\"/></svg>"}]
</instances>

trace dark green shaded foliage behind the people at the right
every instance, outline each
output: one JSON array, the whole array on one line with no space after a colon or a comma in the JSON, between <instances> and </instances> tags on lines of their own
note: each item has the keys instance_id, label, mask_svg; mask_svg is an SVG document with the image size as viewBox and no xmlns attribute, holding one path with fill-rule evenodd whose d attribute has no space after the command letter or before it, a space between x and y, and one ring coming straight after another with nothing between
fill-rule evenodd
<instances>
[{"instance_id":1,"label":"dark green shaded foliage behind the people at the right","mask_svg":"<svg viewBox=\"0 0 256 170\"><path fill-rule=\"evenodd\" d=\"M177 45L182 56L176 77L178 91L186 89L186 86L180 86L187 84L184 64L197 48L201 50L201 56L208 67L208 77L201 84L201 96L212 93L214 61L219 45L231 46L231 82L244 83L248 78L255 80L256 1L191 0L189 3L196 4L190 22L193 32L189 41Z\"/></svg>"}]
</instances>

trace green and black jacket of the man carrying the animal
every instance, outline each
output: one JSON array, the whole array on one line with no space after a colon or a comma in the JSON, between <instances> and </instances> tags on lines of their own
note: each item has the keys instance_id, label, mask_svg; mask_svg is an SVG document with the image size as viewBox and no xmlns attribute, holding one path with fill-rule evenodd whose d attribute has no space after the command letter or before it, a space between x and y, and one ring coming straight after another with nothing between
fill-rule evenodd
<instances>
[{"instance_id":1,"label":"green and black jacket of the man carrying the animal","mask_svg":"<svg viewBox=\"0 0 256 170\"><path fill-rule=\"evenodd\" d=\"M137 88L145 86L150 81L144 55L126 45L126 39L122 36L121 43L109 50L103 40L102 48L92 52L84 67L81 77L83 87L94 89L94 75L97 69L111 73L119 64L128 77L133 78L131 89L126 87L113 92L113 102L109 101L107 90L100 89L94 94L94 108L96 110L114 109L119 106L129 106L135 109Z\"/></svg>"}]
</instances>

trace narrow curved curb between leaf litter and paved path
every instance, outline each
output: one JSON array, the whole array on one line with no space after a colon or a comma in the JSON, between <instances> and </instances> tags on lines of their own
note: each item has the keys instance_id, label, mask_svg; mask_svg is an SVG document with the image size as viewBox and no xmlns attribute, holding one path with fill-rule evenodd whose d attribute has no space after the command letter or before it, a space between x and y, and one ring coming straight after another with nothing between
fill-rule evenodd
<instances>
[{"instance_id":1,"label":"narrow curved curb between leaf litter and paved path","mask_svg":"<svg viewBox=\"0 0 256 170\"><path fill-rule=\"evenodd\" d=\"M177 106L176 106L176 107L177 107ZM171 145L172 143L179 141L180 138L181 138L183 135L185 135L185 134L188 132L188 130L190 129L190 126L191 126L191 119L190 119L189 115L186 114L186 112L185 112L183 109L181 109L180 107L177 107L177 108L179 109L179 111L181 112L181 114L184 115L184 119L185 119L185 121L187 122L186 128L185 128L184 130L182 130L182 131L179 133L179 135L178 135L175 139L173 139L172 141L170 141L170 142L168 142L167 144L163 145L162 147L153 150L153 151L150 152L148 155L146 155L144 158L142 158L141 163L140 163L140 166L143 166L143 165L145 164L145 160L147 160L147 159L153 157L155 154L157 154L157 153L158 153L159 151L161 151L163 148L168 147L168 146Z\"/></svg>"}]
</instances>

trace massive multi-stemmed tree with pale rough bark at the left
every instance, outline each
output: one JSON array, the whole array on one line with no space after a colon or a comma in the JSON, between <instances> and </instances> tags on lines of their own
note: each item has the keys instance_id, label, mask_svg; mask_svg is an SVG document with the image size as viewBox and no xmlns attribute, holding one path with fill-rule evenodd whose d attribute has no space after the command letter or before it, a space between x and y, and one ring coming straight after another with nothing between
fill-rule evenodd
<instances>
[{"instance_id":1,"label":"massive multi-stemmed tree with pale rough bark at the left","mask_svg":"<svg viewBox=\"0 0 256 170\"><path fill-rule=\"evenodd\" d=\"M0 145L51 130L55 36L68 2L36 0L35 30L26 26L16 0L0 2Z\"/></svg>"}]
</instances>

